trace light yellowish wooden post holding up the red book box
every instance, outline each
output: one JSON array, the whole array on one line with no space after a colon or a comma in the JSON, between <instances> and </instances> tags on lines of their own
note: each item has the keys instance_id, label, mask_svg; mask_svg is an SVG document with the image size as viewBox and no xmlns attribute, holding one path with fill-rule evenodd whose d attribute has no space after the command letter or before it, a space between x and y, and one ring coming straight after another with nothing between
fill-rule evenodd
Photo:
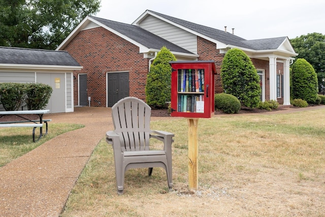
<instances>
[{"instance_id":1,"label":"light yellowish wooden post holding up the red book box","mask_svg":"<svg viewBox=\"0 0 325 217\"><path fill-rule=\"evenodd\" d=\"M199 119L187 119L188 123L188 187L190 190L198 190L198 121Z\"/></svg>"}]
</instances>

